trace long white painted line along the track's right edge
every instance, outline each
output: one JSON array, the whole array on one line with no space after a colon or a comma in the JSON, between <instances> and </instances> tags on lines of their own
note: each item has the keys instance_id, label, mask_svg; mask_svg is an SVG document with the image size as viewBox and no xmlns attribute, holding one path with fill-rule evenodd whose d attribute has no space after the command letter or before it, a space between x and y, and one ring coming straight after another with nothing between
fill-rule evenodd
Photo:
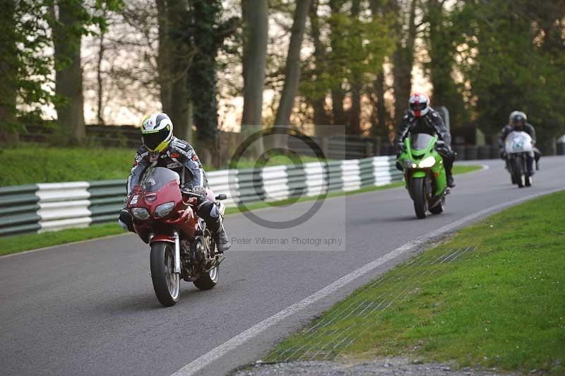
<instances>
[{"instance_id":1,"label":"long white painted line along the track's right edge","mask_svg":"<svg viewBox=\"0 0 565 376\"><path fill-rule=\"evenodd\" d=\"M339 278L337 281L331 283L330 285L326 286L325 288L322 288L317 293L310 295L308 298L304 298L303 300L300 300L299 302L291 305L290 307L285 308L284 310L276 313L275 315L268 317L267 319L264 319L262 322L259 322L258 324L254 325L254 327L251 327L251 328L247 329L246 331L243 331L242 333L238 334L237 336L234 336L232 339L228 340L225 343L222 343L220 346L214 348L213 350L204 354L200 358L193 360L191 363L185 365L183 368L181 368L177 372L174 372L174 374L172 376L196 375L196 373L198 371L203 370L203 368L210 365L215 360L218 360L222 356L225 356L225 354L234 350L238 346L241 346L246 341L249 341L250 339L253 339L254 337L263 333L263 331L266 331L270 327L273 327L275 324L282 322L287 317L294 315L296 312L303 310L304 308L308 307L309 305L313 304L314 302L317 302L318 300L321 300L323 298L326 298L326 297L332 295L333 293L335 293L335 291L337 291L340 288L342 288L343 286L347 285L347 283L350 283L350 282L354 281L355 279L359 278L360 276L363 276L364 274L369 273L369 271L376 269L377 267L381 266L382 264L385 264L386 262L391 261L392 259L395 259L396 257L399 257L400 255L404 254L405 252L408 252L410 249L414 249L415 247L422 245L424 242L432 240L435 237L438 237L439 235L442 235L444 233L448 233L449 231L458 228L460 225L463 225L465 223L473 221L473 220L480 218L481 216L484 216L486 214L492 213L493 211L497 211L499 209L506 208L507 206L511 206L511 205L514 205L514 204L519 204L523 201L528 201L528 200L534 199L535 197L538 197L538 196L544 196L545 194L558 192L560 190L562 190L562 189L552 189L552 190L540 192L540 193L537 193L537 194L530 194L529 196L524 196L524 197L521 197L520 199L507 201L507 202L504 202L502 204L491 206L490 208L485 208L481 211L477 211L477 213L472 213L468 216L460 218L458 221L455 221L455 222L453 222L449 225L445 225L444 227L441 227L437 230L434 230L434 231L432 231L432 233L424 235L423 237L419 237L415 240L411 240L410 242L406 243L405 245L402 245L401 247L394 249L392 252L385 254L383 257L379 257L378 259L376 259L372 262L369 262L369 264L365 264L364 266L361 266L359 269L352 271L350 274L347 274L347 275Z\"/></svg>"}]
</instances>

